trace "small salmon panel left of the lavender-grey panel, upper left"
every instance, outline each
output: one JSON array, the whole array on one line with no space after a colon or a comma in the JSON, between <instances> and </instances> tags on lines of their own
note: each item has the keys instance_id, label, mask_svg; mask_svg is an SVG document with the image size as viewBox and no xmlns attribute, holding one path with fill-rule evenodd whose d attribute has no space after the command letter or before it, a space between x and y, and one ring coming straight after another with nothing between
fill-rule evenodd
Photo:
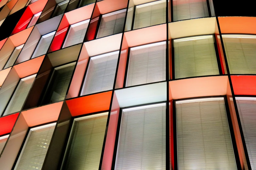
<instances>
[{"instance_id":1,"label":"small salmon panel left of the lavender-grey panel, upper left","mask_svg":"<svg viewBox=\"0 0 256 170\"><path fill-rule=\"evenodd\" d=\"M33 30L34 26L27 28L17 34L10 36L10 39L15 47L18 47L22 44L25 44L28 36L30 35L31 31Z\"/></svg>"}]
</instances>

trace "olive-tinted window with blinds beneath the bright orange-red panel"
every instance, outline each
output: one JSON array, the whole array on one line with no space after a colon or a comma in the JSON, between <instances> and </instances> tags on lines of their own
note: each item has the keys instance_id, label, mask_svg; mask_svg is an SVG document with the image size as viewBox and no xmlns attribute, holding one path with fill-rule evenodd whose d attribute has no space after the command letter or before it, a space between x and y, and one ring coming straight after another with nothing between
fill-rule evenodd
<instances>
[{"instance_id":1,"label":"olive-tinted window with blinds beneath the bright orange-red panel","mask_svg":"<svg viewBox=\"0 0 256 170\"><path fill-rule=\"evenodd\" d=\"M108 112L82 118L73 122L62 170L98 170Z\"/></svg>"}]
</instances>

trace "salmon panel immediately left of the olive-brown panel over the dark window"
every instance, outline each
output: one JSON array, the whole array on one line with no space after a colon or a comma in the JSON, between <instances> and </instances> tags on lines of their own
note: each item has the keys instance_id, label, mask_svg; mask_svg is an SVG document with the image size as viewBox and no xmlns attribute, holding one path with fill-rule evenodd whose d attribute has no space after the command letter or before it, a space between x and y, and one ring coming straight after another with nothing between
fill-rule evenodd
<instances>
[{"instance_id":1,"label":"salmon panel immediately left of the olive-brown panel over the dark window","mask_svg":"<svg viewBox=\"0 0 256 170\"><path fill-rule=\"evenodd\" d=\"M43 62L44 56L45 55L42 55L32 60L28 60L26 62L14 65L13 67L17 71L20 78L36 74Z\"/></svg>"}]
</instances>

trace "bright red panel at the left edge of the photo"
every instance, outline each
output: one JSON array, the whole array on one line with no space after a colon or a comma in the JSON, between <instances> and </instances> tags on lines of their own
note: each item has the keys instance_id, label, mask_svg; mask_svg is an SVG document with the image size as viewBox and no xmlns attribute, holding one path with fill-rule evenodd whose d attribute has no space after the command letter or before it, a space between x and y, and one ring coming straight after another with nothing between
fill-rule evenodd
<instances>
[{"instance_id":1,"label":"bright red panel at the left edge of the photo","mask_svg":"<svg viewBox=\"0 0 256 170\"><path fill-rule=\"evenodd\" d=\"M9 134L15 124L19 113L11 114L0 118L0 136Z\"/></svg>"}]
</instances>

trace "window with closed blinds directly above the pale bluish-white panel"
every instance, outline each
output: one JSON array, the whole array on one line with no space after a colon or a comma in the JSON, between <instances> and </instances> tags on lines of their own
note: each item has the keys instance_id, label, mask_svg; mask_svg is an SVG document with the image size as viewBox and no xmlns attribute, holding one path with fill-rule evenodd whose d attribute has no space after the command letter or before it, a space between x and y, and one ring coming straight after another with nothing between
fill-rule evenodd
<instances>
[{"instance_id":1,"label":"window with closed blinds directly above the pale bluish-white panel","mask_svg":"<svg viewBox=\"0 0 256 170\"><path fill-rule=\"evenodd\" d=\"M130 48L126 86L164 81L166 42Z\"/></svg>"}]
</instances>

